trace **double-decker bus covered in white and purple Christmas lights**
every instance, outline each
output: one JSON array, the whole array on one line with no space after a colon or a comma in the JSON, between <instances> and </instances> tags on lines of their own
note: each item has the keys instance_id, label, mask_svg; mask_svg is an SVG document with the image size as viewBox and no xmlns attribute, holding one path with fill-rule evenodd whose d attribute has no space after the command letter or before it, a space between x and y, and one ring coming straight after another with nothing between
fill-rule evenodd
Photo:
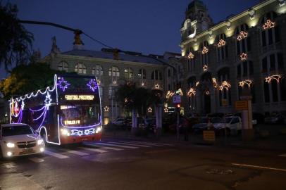
<instances>
[{"instance_id":1,"label":"double-decker bus covered in white and purple Christmas lights","mask_svg":"<svg viewBox=\"0 0 286 190\"><path fill-rule=\"evenodd\" d=\"M10 122L26 123L46 143L101 139L101 100L95 77L54 75L54 85L10 100Z\"/></svg>"}]
</instances>

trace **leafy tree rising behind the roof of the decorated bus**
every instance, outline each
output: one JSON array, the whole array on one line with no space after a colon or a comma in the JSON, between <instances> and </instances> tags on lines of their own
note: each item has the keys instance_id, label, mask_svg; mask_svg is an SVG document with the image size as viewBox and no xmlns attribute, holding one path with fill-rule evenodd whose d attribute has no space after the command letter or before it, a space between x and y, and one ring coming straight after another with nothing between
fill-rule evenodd
<instances>
[{"instance_id":1,"label":"leafy tree rising behind the roof of the decorated bus","mask_svg":"<svg viewBox=\"0 0 286 190\"><path fill-rule=\"evenodd\" d=\"M11 75L0 82L0 91L5 99L21 96L54 84L54 74L61 71L52 70L46 63L30 63L13 68Z\"/></svg>"}]
</instances>

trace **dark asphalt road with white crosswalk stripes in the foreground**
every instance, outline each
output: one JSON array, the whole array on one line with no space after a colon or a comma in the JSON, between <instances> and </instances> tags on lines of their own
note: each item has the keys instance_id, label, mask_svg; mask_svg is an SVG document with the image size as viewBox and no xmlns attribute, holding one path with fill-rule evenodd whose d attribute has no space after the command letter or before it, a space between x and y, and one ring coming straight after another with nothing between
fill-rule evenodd
<instances>
[{"instance_id":1,"label":"dark asphalt road with white crosswalk stripes in the foreground","mask_svg":"<svg viewBox=\"0 0 286 190\"><path fill-rule=\"evenodd\" d=\"M286 152L104 139L0 161L0 189L285 189Z\"/></svg>"}]
</instances>

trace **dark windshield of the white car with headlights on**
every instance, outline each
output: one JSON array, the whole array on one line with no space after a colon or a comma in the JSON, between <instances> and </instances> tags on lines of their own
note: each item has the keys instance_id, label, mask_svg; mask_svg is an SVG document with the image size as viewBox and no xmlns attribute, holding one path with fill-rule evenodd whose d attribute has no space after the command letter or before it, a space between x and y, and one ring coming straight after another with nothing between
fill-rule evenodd
<instances>
[{"instance_id":1,"label":"dark windshield of the white car with headlights on","mask_svg":"<svg viewBox=\"0 0 286 190\"><path fill-rule=\"evenodd\" d=\"M33 130L28 125L15 125L10 127L2 127L2 136L13 136L20 134L33 134Z\"/></svg>"}]
</instances>

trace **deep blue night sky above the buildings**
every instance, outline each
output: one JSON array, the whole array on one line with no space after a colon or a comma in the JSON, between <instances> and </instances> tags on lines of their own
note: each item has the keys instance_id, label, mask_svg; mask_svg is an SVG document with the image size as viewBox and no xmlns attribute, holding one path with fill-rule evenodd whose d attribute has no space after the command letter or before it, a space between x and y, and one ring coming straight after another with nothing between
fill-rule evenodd
<instances>
[{"instance_id":1,"label":"deep blue night sky above the buildings","mask_svg":"<svg viewBox=\"0 0 286 190\"><path fill-rule=\"evenodd\" d=\"M144 54L180 53L180 27L185 9L192 0L66 0L10 1L17 4L18 18L58 23L78 28L108 46ZM203 0L214 23L240 13L259 0ZM2 1L5 4L6 1ZM43 25L25 25L34 34L33 49L46 56L51 37L56 36L61 51L73 48L73 32ZM103 46L82 36L85 49ZM5 77L3 68L0 77Z\"/></svg>"}]
</instances>

